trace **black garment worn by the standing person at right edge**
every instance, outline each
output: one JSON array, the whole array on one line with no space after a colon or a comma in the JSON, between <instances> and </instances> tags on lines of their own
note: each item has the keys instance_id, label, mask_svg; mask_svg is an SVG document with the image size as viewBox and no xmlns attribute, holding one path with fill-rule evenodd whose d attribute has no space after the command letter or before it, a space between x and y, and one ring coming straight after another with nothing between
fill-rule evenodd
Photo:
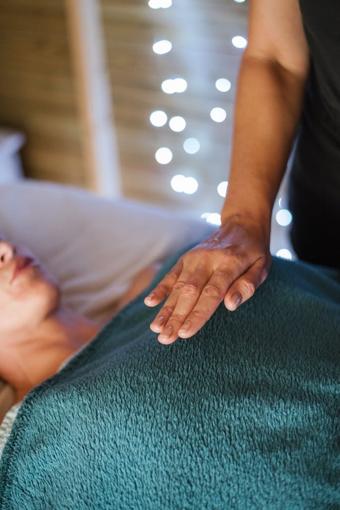
<instances>
[{"instance_id":1,"label":"black garment worn by the standing person at right edge","mask_svg":"<svg viewBox=\"0 0 340 510\"><path fill-rule=\"evenodd\" d=\"M340 1L300 0L311 65L290 177L302 260L340 267Z\"/></svg>"}]
</instances>

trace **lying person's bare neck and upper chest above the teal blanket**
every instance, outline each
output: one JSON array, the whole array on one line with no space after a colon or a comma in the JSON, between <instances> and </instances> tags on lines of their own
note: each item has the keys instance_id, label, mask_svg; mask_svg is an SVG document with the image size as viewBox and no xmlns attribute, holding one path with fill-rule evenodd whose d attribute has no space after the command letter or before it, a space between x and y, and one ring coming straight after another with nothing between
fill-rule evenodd
<instances>
[{"instance_id":1,"label":"lying person's bare neck and upper chest above the teal blanket","mask_svg":"<svg viewBox=\"0 0 340 510\"><path fill-rule=\"evenodd\" d=\"M17 392L16 401L55 374L71 354L86 345L99 326L61 307L30 333L23 333L2 347L0 377Z\"/></svg>"}]
</instances>

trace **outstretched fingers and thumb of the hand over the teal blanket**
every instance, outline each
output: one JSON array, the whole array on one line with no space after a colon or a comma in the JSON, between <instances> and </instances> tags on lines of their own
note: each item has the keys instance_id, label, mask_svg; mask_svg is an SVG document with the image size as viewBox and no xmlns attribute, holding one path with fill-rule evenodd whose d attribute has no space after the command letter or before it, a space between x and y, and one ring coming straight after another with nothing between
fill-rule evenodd
<instances>
[{"instance_id":1,"label":"outstretched fingers and thumb of the hand over the teal blanket","mask_svg":"<svg viewBox=\"0 0 340 510\"><path fill-rule=\"evenodd\" d=\"M159 342L171 344L178 337L189 338L197 333L223 299L230 311L249 299L267 277L270 259L261 257L248 268L244 263L234 260L215 270L200 264L188 270L179 259L145 298L145 304L153 307L168 296L150 324Z\"/></svg>"}]
</instances>

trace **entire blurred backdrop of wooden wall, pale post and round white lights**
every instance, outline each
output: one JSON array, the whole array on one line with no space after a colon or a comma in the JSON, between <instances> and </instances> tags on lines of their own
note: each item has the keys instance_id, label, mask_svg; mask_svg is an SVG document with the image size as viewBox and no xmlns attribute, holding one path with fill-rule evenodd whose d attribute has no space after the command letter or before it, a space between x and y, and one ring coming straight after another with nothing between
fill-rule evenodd
<instances>
[{"instance_id":1,"label":"entire blurred backdrop of wooden wall, pale post and round white lights","mask_svg":"<svg viewBox=\"0 0 340 510\"><path fill-rule=\"evenodd\" d=\"M218 225L247 4L0 0L0 183L70 184ZM294 258L290 222L284 180L271 251Z\"/></svg>"}]
</instances>

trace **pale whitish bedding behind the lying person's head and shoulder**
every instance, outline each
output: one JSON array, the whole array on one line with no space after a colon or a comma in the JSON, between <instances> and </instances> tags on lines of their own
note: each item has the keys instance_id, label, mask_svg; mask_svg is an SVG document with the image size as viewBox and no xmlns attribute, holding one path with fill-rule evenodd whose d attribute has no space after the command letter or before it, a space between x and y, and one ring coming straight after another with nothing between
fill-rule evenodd
<instances>
[{"instance_id":1,"label":"pale whitish bedding behind the lying person's head and shoulder","mask_svg":"<svg viewBox=\"0 0 340 510\"><path fill-rule=\"evenodd\" d=\"M141 269L214 230L183 214L69 186L0 186L0 232L30 247L58 278L63 301L94 320Z\"/></svg>"}]
</instances>

